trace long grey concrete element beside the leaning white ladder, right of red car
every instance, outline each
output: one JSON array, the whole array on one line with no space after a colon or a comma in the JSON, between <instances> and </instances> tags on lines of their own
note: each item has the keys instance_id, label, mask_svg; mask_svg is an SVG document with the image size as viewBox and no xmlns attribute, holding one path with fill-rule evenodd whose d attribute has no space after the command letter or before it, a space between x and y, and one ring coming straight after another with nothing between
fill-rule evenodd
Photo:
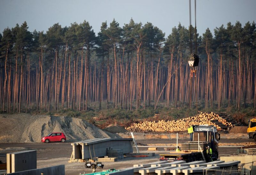
<instances>
[{"instance_id":1,"label":"long grey concrete element beside the leaning white ladder, right of red car","mask_svg":"<svg viewBox=\"0 0 256 175\"><path fill-rule=\"evenodd\" d=\"M132 138L101 138L71 143L73 159L89 159L107 156L108 150L123 149L123 154L132 153Z\"/></svg>"}]
</instances>

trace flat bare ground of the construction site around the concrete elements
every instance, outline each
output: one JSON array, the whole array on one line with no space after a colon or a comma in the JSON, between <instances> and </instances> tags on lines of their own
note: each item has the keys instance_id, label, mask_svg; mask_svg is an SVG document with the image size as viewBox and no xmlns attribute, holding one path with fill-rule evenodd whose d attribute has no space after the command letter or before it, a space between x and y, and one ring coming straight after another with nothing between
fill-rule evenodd
<instances>
[{"instance_id":1,"label":"flat bare ground of the construction site around the concrete elements","mask_svg":"<svg viewBox=\"0 0 256 175\"><path fill-rule=\"evenodd\" d=\"M188 139L179 140L179 144L187 142ZM154 151L154 157L125 157L117 162L104 162L103 169L96 169L97 171L108 169L124 169L132 167L133 164L150 163L159 160L159 154L166 154L170 151L164 151L164 147L174 149L176 139L143 139L137 140L138 145L158 146L158 150ZM219 156L228 156L236 153L237 147L255 145L253 140L249 139L221 139L219 144ZM226 147L228 146L228 147ZM78 175L81 173L90 173L92 169L85 169L84 163L75 162L68 163L72 154L71 142L65 143L0 143L0 160L6 162L6 153L12 153L22 150L36 150L37 151L37 168L44 168L48 166L65 164L65 172L67 175ZM135 150L135 148L134 148ZM139 147L140 152L148 151L148 147Z\"/></svg>"}]
</instances>

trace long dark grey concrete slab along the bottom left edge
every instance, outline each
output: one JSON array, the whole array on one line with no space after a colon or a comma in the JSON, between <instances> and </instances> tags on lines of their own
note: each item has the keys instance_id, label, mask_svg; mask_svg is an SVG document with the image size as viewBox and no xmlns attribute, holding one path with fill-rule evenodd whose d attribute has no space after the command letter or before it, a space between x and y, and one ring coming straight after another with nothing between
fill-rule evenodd
<instances>
[{"instance_id":1,"label":"long dark grey concrete slab along the bottom left edge","mask_svg":"<svg viewBox=\"0 0 256 175\"><path fill-rule=\"evenodd\" d=\"M46 168L39 168L34 170L20 171L10 173L10 175L65 175L65 165L50 166ZM8 174L9 175L9 174Z\"/></svg>"}]
</instances>

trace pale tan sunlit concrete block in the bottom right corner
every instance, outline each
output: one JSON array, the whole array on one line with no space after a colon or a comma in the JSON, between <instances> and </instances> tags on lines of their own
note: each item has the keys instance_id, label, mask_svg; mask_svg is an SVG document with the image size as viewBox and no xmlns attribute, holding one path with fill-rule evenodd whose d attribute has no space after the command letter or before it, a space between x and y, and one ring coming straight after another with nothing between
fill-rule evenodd
<instances>
[{"instance_id":1,"label":"pale tan sunlit concrete block in the bottom right corner","mask_svg":"<svg viewBox=\"0 0 256 175\"><path fill-rule=\"evenodd\" d=\"M256 166L255 163L252 162L256 161L256 155L231 155L231 156L221 156L220 160L223 161L240 161L241 164L244 164L242 172L252 170L252 174L256 174Z\"/></svg>"}]
</instances>

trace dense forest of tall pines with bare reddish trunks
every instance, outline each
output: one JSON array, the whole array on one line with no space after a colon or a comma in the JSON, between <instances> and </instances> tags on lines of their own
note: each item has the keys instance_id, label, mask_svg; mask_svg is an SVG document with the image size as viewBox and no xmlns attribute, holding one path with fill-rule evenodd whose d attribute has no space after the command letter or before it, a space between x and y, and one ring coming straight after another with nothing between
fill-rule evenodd
<instances>
[{"instance_id":1,"label":"dense forest of tall pines with bare reddish trunks","mask_svg":"<svg viewBox=\"0 0 256 175\"><path fill-rule=\"evenodd\" d=\"M1 111L256 108L254 21L207 28L202 36L183 25L169 36L133 19L102 22L97 34L88 21L47 31L30 32L26 22L7 27L0 35ZM195 49L200 62L191 74Z\"/></svg>"}]
</instances>

